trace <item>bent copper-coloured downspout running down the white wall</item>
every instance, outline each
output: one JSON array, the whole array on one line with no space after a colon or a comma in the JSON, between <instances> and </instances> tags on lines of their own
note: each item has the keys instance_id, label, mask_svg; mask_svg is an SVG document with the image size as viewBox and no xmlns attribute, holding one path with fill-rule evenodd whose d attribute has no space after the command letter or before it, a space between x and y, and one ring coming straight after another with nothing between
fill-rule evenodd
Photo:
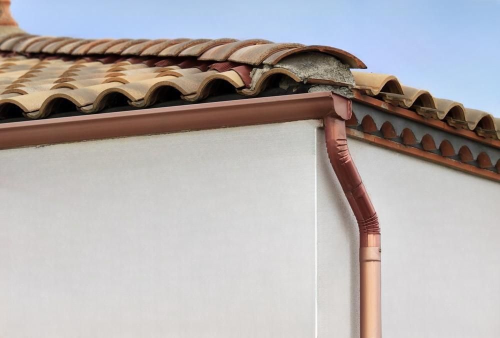
<instances>
[{"instance_id":1,"label":"bent copper-coloured downspout running down the white wall","mask_svg":"<svg viewBox=\"0 0 500 338\"><path fill-rule=\"evenodd\" d=\"M360 336L380 338L380 227L347 147L345 120L351 114L350 100L333 95L333 113L323 118L326 149L333 171L359 225Z\"/></svg>"}]
</instances>

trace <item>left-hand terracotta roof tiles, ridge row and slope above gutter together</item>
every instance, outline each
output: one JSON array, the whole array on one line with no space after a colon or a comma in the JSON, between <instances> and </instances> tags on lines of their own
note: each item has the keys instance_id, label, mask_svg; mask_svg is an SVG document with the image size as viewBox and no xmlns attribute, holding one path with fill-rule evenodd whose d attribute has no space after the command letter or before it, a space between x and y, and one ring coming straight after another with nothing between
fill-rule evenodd
<instances>
[{"instance_id":1,"label":"left-hand terracotta roof tiles, ridge row and slope above gutter together","mask_svg":"<svg viewBox=\"0 0 500 338\"><path fill-rule=\"evenodd\" d=\"M311 51L363 65L339 49L262 39L94 40L22 34L0 37L0 48L0 111L18 111L12 109L15 105L28 118L71 105L88 113L116 104L145 107L227 92L252 96L268 86L284 91L279 87L283 78L295 86L308 80L286 67L285 58L308 57Z\"/></svg>"}]
</instances>

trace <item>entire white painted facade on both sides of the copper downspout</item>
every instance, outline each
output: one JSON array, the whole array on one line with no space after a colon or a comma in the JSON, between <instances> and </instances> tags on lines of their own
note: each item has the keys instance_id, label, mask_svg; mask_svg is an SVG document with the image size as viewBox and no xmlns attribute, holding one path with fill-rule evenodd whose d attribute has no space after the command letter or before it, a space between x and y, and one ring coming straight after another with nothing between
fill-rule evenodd
<instances>
[{"instance_id":1,"label":"entire white painted facade on both sides of the copper downspout","mask_svg":"<svg viewBox=\"0 0 500 338\"><path fill-rule=\"evenodd\" d=\"M317 121L0 151L0 337L357 337ZM349 139L384 337L496 338L500 185Z\"/></svg>"}]
</instances>

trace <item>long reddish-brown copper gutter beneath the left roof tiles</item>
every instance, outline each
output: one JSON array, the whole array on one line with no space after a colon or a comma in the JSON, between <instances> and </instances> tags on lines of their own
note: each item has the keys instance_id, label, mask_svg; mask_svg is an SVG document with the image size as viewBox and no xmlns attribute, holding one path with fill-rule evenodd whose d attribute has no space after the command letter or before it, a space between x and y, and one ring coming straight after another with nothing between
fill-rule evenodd
<instances>
[{"instance_id":1,"label":"long reddish-brown copper gutter beneath the left roof tiles","mask_svg":"<svg viewBox=\"0 0 500 338\"><path fill-rule=\"evenodd\" d=\"M225 126L319 119L330 92L0 123L0 149Z\"/></svg>"}]
</instances>

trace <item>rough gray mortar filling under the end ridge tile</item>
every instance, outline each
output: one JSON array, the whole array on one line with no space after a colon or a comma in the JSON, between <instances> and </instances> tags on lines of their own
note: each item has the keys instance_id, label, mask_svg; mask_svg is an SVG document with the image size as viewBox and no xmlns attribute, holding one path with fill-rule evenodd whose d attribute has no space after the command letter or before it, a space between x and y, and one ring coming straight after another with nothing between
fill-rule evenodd
<instances>
[{"instance_id":1,"label":"rough gray mortar filling under the end ridge tile","mask_svg":"<svg viewBox=\"0 0 500 338\"><path fill-rule=\"evenodd\" d=\"M345 87L354 86L354 77L348 65L328 54L307 52L285 57L274 65L274 67L265 64L262 68L253 68L250 72L252 79L250 88L253 89L260 76L272 68L287 69L296 74L304 82L308 78L315 78L345 83ZM334 87L334 91L340 91L339 93L343 96L352 95L347 88L343 89L342 86L332 87ZM324 87L318 87L313 89L313 91L322 91L320 88Z\"/></svg>"}]
</instances>

